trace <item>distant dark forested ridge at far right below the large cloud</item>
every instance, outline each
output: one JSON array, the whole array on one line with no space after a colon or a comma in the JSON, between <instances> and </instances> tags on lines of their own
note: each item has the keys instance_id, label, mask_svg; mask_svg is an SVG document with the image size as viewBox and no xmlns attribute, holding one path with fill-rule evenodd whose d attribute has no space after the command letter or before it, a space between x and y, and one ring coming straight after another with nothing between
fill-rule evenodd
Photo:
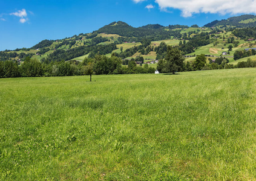
<instances>
[{"instance_id":1,"label":"distant dark forested ridge at far right below the large cloud","mask_svg":"<svg viewBox=\"0 0 256 181\"><path fill-rule=\"evenodd\" d=\"M215 20L204 27L226 27L232 26L237 28L256 27L256 16L251 14L245 14L241 16L229 17L228 19L222 19L221 21Z\"/></svg>"}]
</instances>

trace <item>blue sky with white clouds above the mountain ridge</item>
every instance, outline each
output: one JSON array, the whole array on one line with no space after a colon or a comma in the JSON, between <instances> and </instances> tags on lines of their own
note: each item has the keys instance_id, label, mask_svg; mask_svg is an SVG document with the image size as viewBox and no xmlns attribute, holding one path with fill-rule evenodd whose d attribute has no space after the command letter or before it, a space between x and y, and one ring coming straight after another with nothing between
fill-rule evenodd
<instances>
[{"instance_id":1,"label":"blue sky with white clouds above the mountain ridge","mask_svg":"<svg viewBox=\"0 0 256 181\"><path fill-rule=\"evenodd\" d=\"M255 3L252 0L208 0L205 3L201 0L1 1L0 51L30 48L44 39L90 33L113 21L123 21L133 27L147 24L203 26L216 19L255 14Z\"/></svg>"}]
</instances>

